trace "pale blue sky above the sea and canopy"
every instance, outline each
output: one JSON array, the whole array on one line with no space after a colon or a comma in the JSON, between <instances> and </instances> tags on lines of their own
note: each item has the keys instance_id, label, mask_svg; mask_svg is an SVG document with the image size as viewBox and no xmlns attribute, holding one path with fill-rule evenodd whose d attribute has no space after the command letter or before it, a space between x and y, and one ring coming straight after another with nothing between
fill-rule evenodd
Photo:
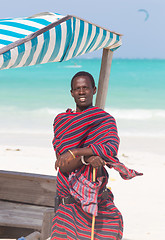
<instances>
[{"instance_id":1,"label":"pale blue sky above the sea and canopy","mask_svg":"<svg viewBox=\"0 0 165 240\"><path fill-rule=\"evenodd\" d=\"M149 17L145 21L145 12ZM0 18L28 17L40 12L75 15L123 34L115 58L165 59L163 0L1 0ZM102 51L84 55L101 57Z\"/></svg>"}]
</instances>

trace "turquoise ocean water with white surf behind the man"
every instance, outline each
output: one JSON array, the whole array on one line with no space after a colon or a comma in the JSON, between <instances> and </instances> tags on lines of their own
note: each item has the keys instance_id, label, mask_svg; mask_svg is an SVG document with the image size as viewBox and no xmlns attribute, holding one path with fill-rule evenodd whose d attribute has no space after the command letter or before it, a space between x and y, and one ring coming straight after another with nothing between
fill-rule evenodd
<instances>
[{"instance_id":1,"label":"turquoise ocean water with white surf behind the man","mask_svg":"<svg viewBox=\"0 0 165 240\"><path fill-rule=\"evenodd\" d=\"M0 71L0 133L51 133L53 120L75 108L70 80L99 79L101 59L73 59ZM95 98L94 98L95 101ZM105 110L123 136L165 136L165 60L113 59Z\"/></svg>"}]
</instances>

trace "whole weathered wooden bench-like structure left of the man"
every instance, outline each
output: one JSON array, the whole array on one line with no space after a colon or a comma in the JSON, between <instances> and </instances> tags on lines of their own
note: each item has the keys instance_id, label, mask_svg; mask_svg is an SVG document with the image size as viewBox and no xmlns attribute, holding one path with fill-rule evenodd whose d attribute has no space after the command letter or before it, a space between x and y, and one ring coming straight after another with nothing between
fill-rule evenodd
<instances>
[{"instance_id":1,"label":"whole weathered wooden bench-like structure left of the man","mask_svg":"<svg viewBox=\"0 0 165 240\"><path fill-rule=\"evenodd\" d=\"M0 238L50 237L55 193L54 176L0 171Z\"/></svg>"}]
</instances>

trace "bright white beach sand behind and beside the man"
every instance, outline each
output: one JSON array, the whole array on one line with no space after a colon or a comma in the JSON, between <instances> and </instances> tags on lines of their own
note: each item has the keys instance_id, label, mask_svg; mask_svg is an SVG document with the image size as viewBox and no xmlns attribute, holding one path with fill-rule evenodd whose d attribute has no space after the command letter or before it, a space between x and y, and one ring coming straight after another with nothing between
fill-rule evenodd
<instances>
[{"instance_id":1,"label":"bright white beach sand behind and beside the man","mask_svg":"<svg viewBox=\"0 0 165 240\"><path fill-rule=\"evenodd\" d=\"M120 136L119 159L143 176L123 180L109 170L115 204L124 218L124 240L157 240L165 234L165 138ZM2 134L2 170L56 175L51 135ZM21 236L20 236L21 237Z\"/></svg>"}]
</instances>

